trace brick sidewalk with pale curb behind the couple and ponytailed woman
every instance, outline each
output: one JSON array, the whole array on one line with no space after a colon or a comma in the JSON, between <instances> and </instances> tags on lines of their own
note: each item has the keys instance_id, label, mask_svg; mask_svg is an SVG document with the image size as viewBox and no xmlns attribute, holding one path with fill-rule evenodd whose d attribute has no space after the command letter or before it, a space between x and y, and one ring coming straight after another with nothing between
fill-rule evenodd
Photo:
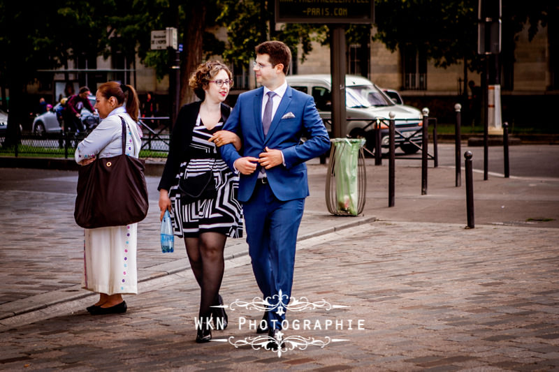
<instances>
[{"instance_id":1,"label":"brick sidewalk with pale curb behind the couple and ponytailed woman","mask_svg":"<svg viewBox=\"0 0 559 372\"><path fill-rule=\"evenodd\" d=\"M319 168L323 168L319 166ZM76 172L57 172L43 178L45 172L29 170L0 170L4 180L0 213L5 216L0 225L4 241L0 251L0 330L6 318L36 311L72 299L89 297L92 292L80 285L83 269L83 229L73 219ZM35 180L20 180L15 174L33 172ZM10 174L14 174L10 176ZM147 177L150 209L147 218L138 225L138 281L147 281L189 268L184 242L175 240L174 253L161 253L159 243L159 207L157 206L158 177ZM52 190L35 191L36 184ZM0 187L2 184L0 184ZM22 186L21 186L22 185ZM45 186L46 185L46 186ZM324 194L324 191L323 191ZM324 200L324 195L321 195ZM311 200L311 198L310 198ZM343 228L375 220L365 215L339 218L326 210L305 209L298 239L324 235ZM324 202L321 204L324 205ZM247 255L245 238L228 239L226 260Z\"/></svg>"}]
</instances>

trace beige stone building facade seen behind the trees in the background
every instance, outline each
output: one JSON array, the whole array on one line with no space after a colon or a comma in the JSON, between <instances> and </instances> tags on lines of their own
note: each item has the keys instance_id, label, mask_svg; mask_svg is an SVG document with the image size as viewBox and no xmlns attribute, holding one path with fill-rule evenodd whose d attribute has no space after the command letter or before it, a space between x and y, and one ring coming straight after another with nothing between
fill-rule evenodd
<instances>
[{"instance_id":1,"label":"beige stone building facade seen behind the trees in the background","mask_svg":"<svg viewBox=\"0 0 559 372\"><path fill-rule=\"evenodd\" d=\"M555 28L554 28L555 27ZM550 125L557 123L551 115L551 107L559 103L559 32L558 27L540 27L533 40L528 40L528 27L518 34L516 43L503 40L500 59L500 85L502 92L502 117L504 121L533 121ZM375 32L375 29L372 29ZM226 39L224 30L215 34ZM428 107L433 117L451 121L455 103L467 103L464 97L471 92L464 81L462 64L437 68L425 55L407 50L391 52L384 44L372 42L366 45L347 45L347 73L363 75L380 87L397 89L405 103L416 107ZM367 61L362 61L363 56ZM219 58L219 56L216 56ZM296 61L296 71L306 73L330 73L329 47L313 44L312 52L304 62ZM256 86L254 72L249 66L231 66L235 75L233 94ZM366 69L366 70L365 70ZM143 66L136 56L113 53L108 59L78 59L71 61L66 72L50 72L41 75L36 84L29 86L29 94L45 96L48 101L58 101L64 96L66 84L74 89L87 85L94 91L108 80L117 80L136 87L140 99L148 91L154 93L161 104L161 114L168 113L168 78L158 80L153 68ZM467 80L481 85L479 73L468 71ZM184 84L184 82L183 82ZM464 91L464 89L467 89ZM538 116L535 117L535 113Z\"/></svg>"}]
</instances>

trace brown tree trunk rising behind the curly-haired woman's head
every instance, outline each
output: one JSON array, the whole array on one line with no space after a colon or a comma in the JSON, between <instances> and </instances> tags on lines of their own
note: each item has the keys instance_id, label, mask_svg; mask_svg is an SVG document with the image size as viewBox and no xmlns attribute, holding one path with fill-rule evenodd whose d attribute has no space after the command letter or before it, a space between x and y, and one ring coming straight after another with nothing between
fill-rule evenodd
<instances>
[{"instance_id":1,"label":"brown tree trunk rising behind the curly-haired woman's head","mask_svg":"<svg viewBox=\"0 0 559 372\"><path fill-rule=\"evenodd\" d=\"M194 70L202 63L202 37L205 30L205 5L203 1L189 1L184 13L185 21L183 58L180 66L180 106L196 101L194 91L188 80ZM179 107L180 108L180 107Z\"/></svg>"}]
</instances>

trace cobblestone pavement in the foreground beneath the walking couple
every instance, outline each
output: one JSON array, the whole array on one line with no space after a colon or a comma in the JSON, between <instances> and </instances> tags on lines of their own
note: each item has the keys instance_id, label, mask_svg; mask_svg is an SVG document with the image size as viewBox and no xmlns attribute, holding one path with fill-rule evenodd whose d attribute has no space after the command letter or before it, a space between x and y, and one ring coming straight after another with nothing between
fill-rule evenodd
<instances>
[{"instance_id":1,"label":"cobblestone pavement in the foreground beneath the walking couple","mask_svg":"<svg viewBox=\"0 0 559 372\"><path fill-rule=\"evenodd\" d=\"M242 307L213 332L223 342L194 343L198 287L180 271L142 283L124 315L92 317L83 310L90 298L35 314L2 332L0 368L558 371L558 241L559 230L546 228L359 225L298 246L293 297L348 307L288 311L285 334L324 347L235 348L256 336L242 322L261 317ZM228 260L222 295L226 304L259 295L247 256Z\"/></svg>"}]
</instances>

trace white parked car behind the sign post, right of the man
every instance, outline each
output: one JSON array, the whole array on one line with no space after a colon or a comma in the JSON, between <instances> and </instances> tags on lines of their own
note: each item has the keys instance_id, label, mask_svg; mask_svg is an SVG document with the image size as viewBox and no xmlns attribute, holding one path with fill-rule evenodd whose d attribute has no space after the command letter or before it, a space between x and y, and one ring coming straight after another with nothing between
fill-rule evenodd
<instances>
[{"instance_id":1,"label":"white parked car behind the sign post, right of the man","mask_svg":"<svg viewBox=\"0 0 559 372\"><path fill-rule=\"evenodd\" d=\"M289 75L286 80L294 89L313 96L322 119L331 119L331 75ZM389 119L389 112L394 112L396 131L401 133L396 133L395 146L406 154L414 154L419 150L419 147L406 141L406 138L421 146L421 111L407 105L396 105L382 89L365 77L346 75L345 85L346 114L349 119L345 133L349 137L365 138L365 147L374 151L375 131L371 123L377 118ZM326 129L331 133L328 121ZM389 147L389 127L386 124L381 124L381 138L381 146Z\"/></svg>"}]
</instances>

